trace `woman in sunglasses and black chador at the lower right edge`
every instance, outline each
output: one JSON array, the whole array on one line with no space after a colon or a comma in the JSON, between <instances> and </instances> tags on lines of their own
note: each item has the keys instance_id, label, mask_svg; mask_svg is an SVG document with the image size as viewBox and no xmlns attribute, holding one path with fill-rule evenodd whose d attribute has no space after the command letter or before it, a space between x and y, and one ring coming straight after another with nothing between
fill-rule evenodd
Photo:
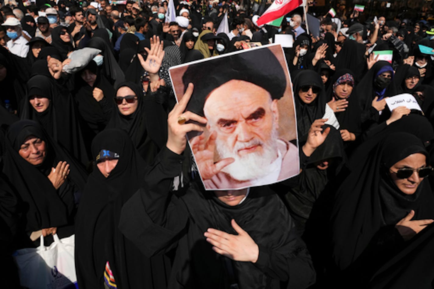
<instances>
[{"instance_id":1,"label":"woman in sunglasses and black chador at the lower right edge","mask_svg":"<svg viewBox=\"0 0 434 289\"><path fill-rule=\"evenodd\" d=\"M418 137L391 133L365 151L337 191L332 215L336 279L348 284L357 276L361 288L434 218L432 168Z\"/></svg>"}]
</instances>

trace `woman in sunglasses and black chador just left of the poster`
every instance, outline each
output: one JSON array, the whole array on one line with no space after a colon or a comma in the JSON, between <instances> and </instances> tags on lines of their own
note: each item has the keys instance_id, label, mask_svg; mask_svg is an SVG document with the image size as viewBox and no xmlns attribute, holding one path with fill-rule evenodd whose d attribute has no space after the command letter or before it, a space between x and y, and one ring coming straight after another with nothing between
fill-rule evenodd
<instances>
[{"instance_id":1,"label":"woman in sunglasses and black chador just left of the poster","mask_svg":"<svg viewBox=\"0 0 434 289\"><path fill-rule=\"evenodd\" d=\"M106 128L121 128L126 131L138 149L141 157L150 164L159 151L161 122L159 115L167 115L154 99L145 98L140 85L134 82L122 82L116 89L115 109ZM165 143L165 141L164 141Z\"/></svg>"}]
</instances>

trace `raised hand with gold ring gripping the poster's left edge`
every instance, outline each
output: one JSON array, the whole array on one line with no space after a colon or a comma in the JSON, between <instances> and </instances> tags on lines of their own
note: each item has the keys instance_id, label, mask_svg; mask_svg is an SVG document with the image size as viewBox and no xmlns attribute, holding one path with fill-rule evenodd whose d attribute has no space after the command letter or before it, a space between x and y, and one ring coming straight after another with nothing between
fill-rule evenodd
<instances>
[{"instance_id":1,"label":"raised hand with gold ring gripping the poster's left edge","mask_svg":"<svg viewBox=\"0 0 434 289\"><path fill-rule=\"evenodd\" d=\"M169 150L176 154L182 154L187 144L185 134L189 131L204 131L204 128L194 123L185 123L188 120L200 122L202 124L207 123L207 119L194 114L193 112L184 112L187 107L187 103L190 100L193 93L193 83L188 84L187 90L184 93L182 99L173 107L169 112L167 118L168 125L168 139L166 146ZM182 121L181 121L182 120Z\"/></svg>"}]
</instances>

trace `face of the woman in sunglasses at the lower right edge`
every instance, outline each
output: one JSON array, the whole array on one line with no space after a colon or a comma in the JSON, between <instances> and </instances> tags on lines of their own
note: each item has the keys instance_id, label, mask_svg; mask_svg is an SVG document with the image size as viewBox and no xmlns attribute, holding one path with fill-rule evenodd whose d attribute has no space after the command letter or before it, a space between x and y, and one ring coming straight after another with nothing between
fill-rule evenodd
<instances>
[{"instance_id":1,"label":"face of the woman in sunglasses at the lower right edge","mask_svg":"<svg viewBox=\"0 0 434 289\"><path fill-rule=\"evenodd\" d=\"M421 184L421 181L423 181L424 178L419 177L417 171L413 171L410 177L401 179L398 178L397 171L402 168L411 168L416 170L418 168L425 167L426 165L426 158L424 154L410 154L407 158L404 158L394 164L389 169L389 174L392 181L395 183L396 187L401 190L401 192L406 195L411 195L416 192L419 184Z\"/></svg>"}]
</instances>

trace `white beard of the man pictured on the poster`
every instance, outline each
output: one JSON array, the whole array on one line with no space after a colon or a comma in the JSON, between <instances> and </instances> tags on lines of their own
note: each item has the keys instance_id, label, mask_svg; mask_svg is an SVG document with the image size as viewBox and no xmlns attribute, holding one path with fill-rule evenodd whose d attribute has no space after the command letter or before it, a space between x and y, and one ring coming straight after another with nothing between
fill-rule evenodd
<instances>
[{"instance_id":1,"label":"white beard of the man pictured on the poster","mask_svg":"<svg viewBox=\"0 0 434 289\"><path fill-rule=\"evenodd\" d=\"M277 158L277 128L273 124L273 129L270 138L264 143L263 141L254 138L248 142L237 142L231 150L227 147L226 142L216 139L217 152L220 158L234 158L232 164L227 165L221 170L229 174L233 179L238 181L254 180L264 177L270 172L266 168ZM263 152L252 152L240 156L237 151L242 148L248 148L254 145L261 145Z\"/></svg>"}]
</instances>

